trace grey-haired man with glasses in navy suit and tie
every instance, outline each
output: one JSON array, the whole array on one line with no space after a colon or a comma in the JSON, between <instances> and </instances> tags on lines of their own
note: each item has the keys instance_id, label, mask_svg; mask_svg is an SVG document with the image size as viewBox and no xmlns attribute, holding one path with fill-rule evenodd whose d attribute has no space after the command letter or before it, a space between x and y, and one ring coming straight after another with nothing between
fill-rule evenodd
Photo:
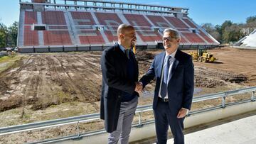
<instances>
[{"instance_id":1,"label":"grey-haired man with glasses in navy suit and tie","mask_svg":"<svg viewBox=\"0 0 256 144\"><path fill-rule=\"evenodd\" d=\"M149 70L139 80L142 90L152 79L156 78L154 92L154 117L156 123L157 143L167 140L169 126L174 135L174 143L184 143L183 121L191 109L194 69L191 55L178 50L181 36L178 31L164 30L163 45L165 52L156 55Z\"/></svg>"}]
</instances>

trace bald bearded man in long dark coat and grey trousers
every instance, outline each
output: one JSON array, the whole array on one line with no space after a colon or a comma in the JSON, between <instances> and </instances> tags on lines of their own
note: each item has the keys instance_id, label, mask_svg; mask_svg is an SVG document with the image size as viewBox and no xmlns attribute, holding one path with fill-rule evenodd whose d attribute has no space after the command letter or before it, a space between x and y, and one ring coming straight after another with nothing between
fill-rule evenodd
<instances>
[{"instance_id":1,"label":"bald bearded man in long dark coat and grey trousers","mask_svg":"<svg viewBox=\"0 0 256 144\"><path fill-rule=\"evenodd\" d=\"M132 26L122 24L117 29L118 44L102 52L102 96L100 118L110 136L108 143L129 142L132 120L138 104L135 92L138 64L131 48L136 43Z\"/></svg>"}]
</instances>

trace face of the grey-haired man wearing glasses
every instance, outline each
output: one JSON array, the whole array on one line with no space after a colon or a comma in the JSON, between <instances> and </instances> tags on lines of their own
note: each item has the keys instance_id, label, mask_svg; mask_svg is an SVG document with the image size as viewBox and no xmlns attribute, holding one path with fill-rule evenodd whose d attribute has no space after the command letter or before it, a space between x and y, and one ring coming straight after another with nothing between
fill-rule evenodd
<instances>
[{"instance_id":1,"label":"face of the grey-haired man wearing glasses","mask_svg":"<svg viewBox=\"0 0 256 144\"><path fill-rule=\"evenodd\" d=\"M166 32L163 35L163 45L165 50L176 50L180 43L180 38L175 38L174 33Z\"/></svg>"}]
</instances>

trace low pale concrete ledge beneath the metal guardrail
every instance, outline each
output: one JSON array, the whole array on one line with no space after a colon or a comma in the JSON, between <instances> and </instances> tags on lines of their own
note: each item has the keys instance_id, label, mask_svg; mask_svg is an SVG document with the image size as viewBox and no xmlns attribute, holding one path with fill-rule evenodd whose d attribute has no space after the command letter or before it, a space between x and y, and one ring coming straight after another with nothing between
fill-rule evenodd
<instances>
[{"instance_id":1,"label":"low pale concrete ledge beneath the metal guardrail","mask_svg":"<svg viewBox=\"0 0 256 144\"><path fill-rule=\"evenodd\" d=\"M230 116L236 116L242 113L246 113L249 111L255 111L256 110L256 102L247 102L243 104L237 104L233 106L225 107L224 109L216 109L213 111L206 111L203 113L196 113L191 114L190 116L187 116L184 121L185 128L191 128L193 126L198 126L204 123L210 123L222 118L228 118ZM170 131L170 130L169 130ZM101 143L107 143L107 137L109 133L101 133L97 135L91 135L81 138L80 140L65 140L60 141L58 143L74 143L74 144L101 144ZM135 142L138 140L146 139L146 138L152 138L156 136L155 133L155 125L154 121L148 124L144 124L144 126L138 128L133 127L132 132L130 134L130 142Z\"/></svg>"}]
</instances>

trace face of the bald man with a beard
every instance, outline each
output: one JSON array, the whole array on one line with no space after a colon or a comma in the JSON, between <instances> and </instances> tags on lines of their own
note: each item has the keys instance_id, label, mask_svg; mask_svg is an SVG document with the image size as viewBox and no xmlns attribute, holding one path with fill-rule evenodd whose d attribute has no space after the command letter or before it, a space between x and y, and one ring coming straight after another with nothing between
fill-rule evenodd
<instances>
[{"instance_id":1,"label":"face of the bald man with a beard","mask_svg":"<svg viewBox=\"0 0 256 144\"><path fill-rule=\"evenodd\" d=\"M122 39L125 45L128 45L129 48L132 48L134 47L134 45L136 45L137 38L136 38L136 33L134 29L124 31L124 34L122 36L123 36Z\"/></svg>"}]
</instances>

